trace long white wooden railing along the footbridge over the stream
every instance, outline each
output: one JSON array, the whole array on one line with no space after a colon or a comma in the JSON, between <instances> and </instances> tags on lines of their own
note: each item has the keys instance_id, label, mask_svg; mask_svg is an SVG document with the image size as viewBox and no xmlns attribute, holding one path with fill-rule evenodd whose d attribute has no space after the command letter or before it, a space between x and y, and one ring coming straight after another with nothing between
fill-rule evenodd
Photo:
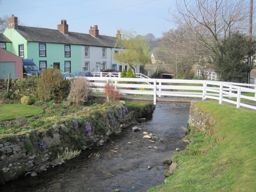
<instances>
[{"instance_id":1,"label":"long white wooden railing along the footbridge over the stream","mask_svg":"<svg viewBox=\"0 0 256 192\"><path fill-rule=\"evenodd\" d=\"M105 82L112 81L119 87L122 94L153 96L154 105L157 103L157 96L178 96L202 98L203 101L207 98L216 99L219 100L220 104L222 104L222 102L228 102L235 104L237 108L243 106L256 110L255 106L241 102L241 99L256 101L255 84L183 79L139 80L135 78L110 77L87 77L87 79L94 81L92 87L93 92L104 92ZM253 88L247 88L249 85ZM246 96L242 93L251 93L253 96ZM232 98L235 98L236 101L232 100Z\"/></svg>"}]
</instances>

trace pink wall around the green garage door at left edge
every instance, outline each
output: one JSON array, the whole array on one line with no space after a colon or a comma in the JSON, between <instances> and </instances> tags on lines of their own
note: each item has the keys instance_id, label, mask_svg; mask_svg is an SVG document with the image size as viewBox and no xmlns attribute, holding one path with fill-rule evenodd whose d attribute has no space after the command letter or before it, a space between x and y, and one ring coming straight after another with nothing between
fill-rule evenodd
<instances>
[{"instance_id":1,"label":"pink wall around the green garage door at left edge","mask_svg":"<svg viewBox=\"0 0 256 192\"><path fill-rule=\"evenodd\" d=\"M3 48L0 48L0 62L15 62L15 77L16 79L23 78L22 58L12 54L9 51L6 51Z\"/></svg>"}]
</instances>

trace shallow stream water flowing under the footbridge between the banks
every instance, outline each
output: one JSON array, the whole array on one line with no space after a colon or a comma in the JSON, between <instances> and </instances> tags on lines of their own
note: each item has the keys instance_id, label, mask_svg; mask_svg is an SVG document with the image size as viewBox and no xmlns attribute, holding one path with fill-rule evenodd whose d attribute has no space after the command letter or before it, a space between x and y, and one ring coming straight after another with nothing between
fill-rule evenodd
<instances>
[{"instance_id":1,"label":"shallow stream water flowing under the footbridge between the banks","mask_svg":"<svg viewBox=\"0 0 256 192\"><path fill-rule=\"evenodd\" d=\"M157 104L151 119L137 125L143 130L132 132L131 127L125 128L122 133L112 135L111 141L104 146L85 150L79 157L36 177L28 174L7 183L0 187L0 191L146 191L164 183L164 170L169 166L162 163L163 159L171 158L176 148L185 148L180 142L185 136L181 126L186 127L188 116L189 105ZM150 143L149 139L143 138L143 131L155 134L163 143L159 140ZM148 170L148 166L152 169Z\"/></svg>"}]
</instances>

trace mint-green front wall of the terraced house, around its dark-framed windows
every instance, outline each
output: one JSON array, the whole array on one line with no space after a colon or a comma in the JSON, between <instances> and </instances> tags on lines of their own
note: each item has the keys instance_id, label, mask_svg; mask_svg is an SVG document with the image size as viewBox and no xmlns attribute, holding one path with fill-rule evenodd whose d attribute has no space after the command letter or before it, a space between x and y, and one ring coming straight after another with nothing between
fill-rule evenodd
<instances>
[{"instance_id":1,"label":"mint-green front wall of the terraced house, around its dark-framed windows","mask_svg":"<svg viewBox=\"0 0 256 192\"><path fill-rule=\"evenodd\" d=\"M44 42L42 42L44 43ZM28 58L39 67L39 61L47 61L47 68L53 68L53 63L60 63L60 70L65 70L65 61L71 62L71 73L81 70L81 46L70 45L71 57L65 57L64 44L46 44L46 57L39 57L39 42L28 42Z\"/></svg>"}]
</instances>

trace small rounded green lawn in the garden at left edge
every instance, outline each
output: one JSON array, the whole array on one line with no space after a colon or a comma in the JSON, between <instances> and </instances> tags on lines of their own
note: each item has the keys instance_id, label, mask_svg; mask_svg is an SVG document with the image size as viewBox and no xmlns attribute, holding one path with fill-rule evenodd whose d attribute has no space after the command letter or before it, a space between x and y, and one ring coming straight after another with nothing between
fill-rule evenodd
<instances>
[{"instance_id":1,"label":"small rounded green lawn in the garden at left edge","mask_svg":"<svg viewBox=\"0 0 256 192\"><path fill-rule=\"evenodd\" d=\"M33 116L43 113L43 109L33 105L0 104L0 121L15 119L17 116Z\"/></svg>"}]
</instances>

